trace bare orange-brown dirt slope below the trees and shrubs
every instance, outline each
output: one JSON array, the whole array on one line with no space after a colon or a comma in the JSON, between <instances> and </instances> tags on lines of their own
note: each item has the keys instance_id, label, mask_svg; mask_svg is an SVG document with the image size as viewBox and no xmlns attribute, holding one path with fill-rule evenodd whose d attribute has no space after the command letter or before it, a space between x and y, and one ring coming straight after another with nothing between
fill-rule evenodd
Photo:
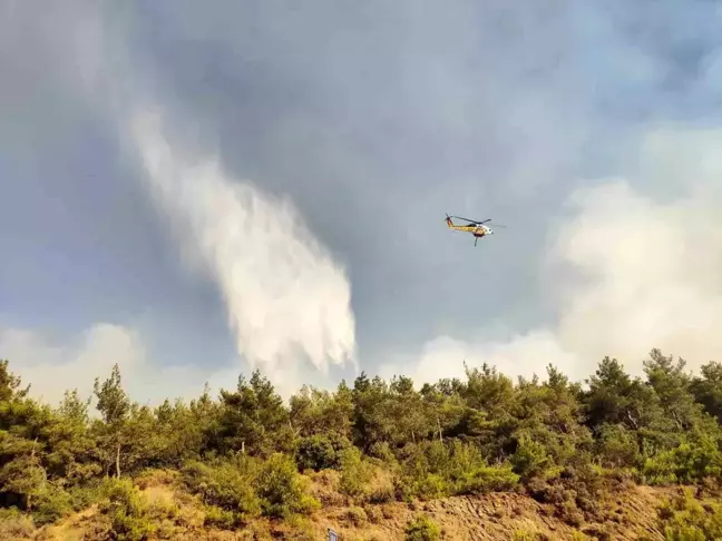
<instances>
[{"instance_id":1,"label":"bare orange-brown dirt slope below the trees and shrubs","mask_svg":"<svg viewBox=\"0 0 722 541\"><path fill-rule=\"evenodd\" d=\"M323 506L308 519L286 523L260 520L245 531L209 530L203 527L204 513L197 499L177 488L167 479L144 488L150 501L174 505L173 520L166 521L160 537L176 540L324 540L333 528L342 541L403 540L409 520L425 513L441 528L447 540L663 540L656 527L655 509L671 490L634 488L618 493L607 502L605 523L580 524L574 529L555 517L550 506L514 493L494 493L485 496L447 498L425 503L386 503L350 505L344 496L314 483L314 492ZM91 508L59 523L3 539L35 541L80 541L109 539L107 518ZM580 535L584 532L586 537ZM523 534L525 537L523 537ZM539 535L542 534L542 535ZM7 533L6 533L7 535Z\"/></svg>"}]
</instances>

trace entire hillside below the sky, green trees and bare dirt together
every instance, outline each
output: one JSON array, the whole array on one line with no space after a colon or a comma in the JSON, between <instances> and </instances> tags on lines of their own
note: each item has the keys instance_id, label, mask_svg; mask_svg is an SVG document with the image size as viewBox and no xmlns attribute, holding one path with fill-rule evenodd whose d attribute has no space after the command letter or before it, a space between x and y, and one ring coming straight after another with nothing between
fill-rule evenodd
<instances>
[{"instance_id":1,"label":"entire hillside below the sky, green trees and bare dirt together","mask_svg":"<svg viewBox=\"0 0 722 541\"><path fill-rule=\"evenodd\" d=\"M285 404L254 372L150 409L116 366L50 407L3 361L0 538L719 539L722 365L584 383L362 374Z\"/></svg>"}]
</instances>

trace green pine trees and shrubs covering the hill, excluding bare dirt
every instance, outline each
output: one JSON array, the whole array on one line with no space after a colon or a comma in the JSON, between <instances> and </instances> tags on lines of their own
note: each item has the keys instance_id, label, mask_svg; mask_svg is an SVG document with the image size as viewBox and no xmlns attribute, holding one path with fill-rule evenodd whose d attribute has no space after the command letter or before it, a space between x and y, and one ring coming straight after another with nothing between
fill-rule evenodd
<instances>
[{"instance_id":1,"label":"green pine trees and shrubs covering the hill, excluding bare dirt","mask_svg":"<svg viewBox=\"0 0 722 541\"><path fill-rule=\"evenodd\" d=\"M139 494L153 469L179 472L205 524L222 529L311 513L320 503L303 473L322 470L338 472L359 515L364 504L524 491L578 525L598 519L599 494L621 485L715 490L722 364L693 375L653 350L644 377L606 357L585 383L553 365L545 381L516 382L485 365L420 391L408 377L361 374L335 392L304 386L284 404L256 371L218 397L206 390L152 409L127 395L116 366L96 381L92 402L72 391L51 407L2 361L0 520L21 513L43 524L98 503L116 538L144 539L173 514ZM712 511L674 501L661 519L669 539L712 539L694 537L722 530L722 512ZM425 520L409 524L409 539L438 537Z\"/></svg>"}]
</instances>

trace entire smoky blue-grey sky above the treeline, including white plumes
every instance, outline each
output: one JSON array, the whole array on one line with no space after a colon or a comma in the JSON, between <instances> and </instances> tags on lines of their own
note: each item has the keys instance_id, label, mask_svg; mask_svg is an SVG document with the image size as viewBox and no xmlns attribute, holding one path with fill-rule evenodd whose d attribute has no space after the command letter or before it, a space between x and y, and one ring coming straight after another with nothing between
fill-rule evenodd
<instances>
[{"instance_id":1,"label":"entire smoky blue-grey sky above the treeline, including white plumes","mask_svg":"<svg viewBox=\"0 0 722 541\"><path fill-rule=\"evenodd\" d=\"M0 0L0 358L48 402L722 361L721 4L451 7Z\"/></svg>"}]
</instances>

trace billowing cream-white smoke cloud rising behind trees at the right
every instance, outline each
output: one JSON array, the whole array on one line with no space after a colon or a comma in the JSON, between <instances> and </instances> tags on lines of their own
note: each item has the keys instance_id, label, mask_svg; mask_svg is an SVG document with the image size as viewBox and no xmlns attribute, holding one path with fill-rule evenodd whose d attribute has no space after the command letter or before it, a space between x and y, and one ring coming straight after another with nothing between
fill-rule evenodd
<instances>
[{"instance_id":1,"label":"billowing cream-white smoke cloud rising behind trees at the right","mask_svg":"<svg viewBox=\"0 0 722 541\"><path fill-rule=\"evenodd\" d=\"M505 341L441 336L420 360L399 358L384 374L435 382L462 376L466 361L528 376L553 363L583 380L605 355L640 374L653 347L682 356L692 370L722 360L720 144L720 131L665 129L645 138L635 180L681 193L671 200L647 197L625 178L572 194L573 215L550 234L539 265L555 299L554 325Z\"/></svg>"}]
</instances>

